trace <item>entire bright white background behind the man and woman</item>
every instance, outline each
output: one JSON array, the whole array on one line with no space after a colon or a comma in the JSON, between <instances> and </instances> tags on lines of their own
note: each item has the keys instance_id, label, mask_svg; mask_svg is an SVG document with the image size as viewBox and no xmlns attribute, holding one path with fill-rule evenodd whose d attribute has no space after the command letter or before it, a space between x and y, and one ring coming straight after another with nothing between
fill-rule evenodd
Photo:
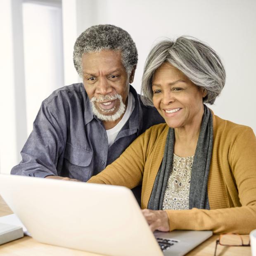
<instances>
[{"instance_id":1,"label":"entire bright white background behind the man and woman","mask_svg":"<svg viewBox=\"0 0 256 256\"><path fill-rule=\"evenodd\" d=\"M130 33L139 62L133 87L159 40L194 36L223 60L227 79L210 106L223 119L256 132L255 0L1 0L0 172L9 173L31 133L41 102L81 82L73 45L86 28L114 24Z\"/></svg>"}]
</instances>

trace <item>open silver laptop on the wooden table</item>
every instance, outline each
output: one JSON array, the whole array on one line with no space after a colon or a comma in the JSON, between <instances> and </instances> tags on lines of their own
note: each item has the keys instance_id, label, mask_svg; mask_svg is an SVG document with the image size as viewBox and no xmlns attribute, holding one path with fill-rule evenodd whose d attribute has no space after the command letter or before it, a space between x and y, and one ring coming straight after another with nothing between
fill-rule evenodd
<instances>
[{"instance_id":1,"label":"open silver laptop on the wooden table","mask_svg":"<svg viewBox=\"0 0 256 256\"><path fill-rule=\"evenodd\" d=\"M39 242L111 256L184 255L211 231L153 234L126 187L0 175L0 194Z\"/></svg>"}]
</instances>

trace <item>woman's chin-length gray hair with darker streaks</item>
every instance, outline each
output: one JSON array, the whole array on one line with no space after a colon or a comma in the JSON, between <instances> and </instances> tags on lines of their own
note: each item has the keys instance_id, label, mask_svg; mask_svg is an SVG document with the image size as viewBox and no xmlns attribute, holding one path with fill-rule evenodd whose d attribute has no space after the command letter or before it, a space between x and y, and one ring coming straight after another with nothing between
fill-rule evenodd
<instances>
[{"instance_id":1,"label":"woman's chin-length gray hair with darker streaks","mask_svg":"<svg viewBox=\"0 0 256 256\"><path fill-rule=\"evenodd\" d=\"M164 62L170 63L207 92L204 103L213 104L225 85L225 69L217 53L196 38L181 36L163 40L149 52L142 76L143 103L153 105L152 79Z\"/></svg>"}]
</instances>

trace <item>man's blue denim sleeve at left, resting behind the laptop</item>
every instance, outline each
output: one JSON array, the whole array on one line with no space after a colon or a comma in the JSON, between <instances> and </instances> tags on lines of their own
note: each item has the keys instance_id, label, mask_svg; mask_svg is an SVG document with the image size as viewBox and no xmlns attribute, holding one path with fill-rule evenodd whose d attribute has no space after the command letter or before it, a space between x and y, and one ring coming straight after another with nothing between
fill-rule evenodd
<instances>
[{"instance_id":1,"label":"man's blue denim sleeve at left, resting behind the laptop","mask_svg":"<svg viewBox=\"0 0 256 256\"><path fill-rule=\"evenodd\" d=\"M32 133L21 150L22 160L12 168L11 174L41 178L57 176L57 161L66 140L65 129L54 110L42 103Z\"/></svg>"}]
</instances>

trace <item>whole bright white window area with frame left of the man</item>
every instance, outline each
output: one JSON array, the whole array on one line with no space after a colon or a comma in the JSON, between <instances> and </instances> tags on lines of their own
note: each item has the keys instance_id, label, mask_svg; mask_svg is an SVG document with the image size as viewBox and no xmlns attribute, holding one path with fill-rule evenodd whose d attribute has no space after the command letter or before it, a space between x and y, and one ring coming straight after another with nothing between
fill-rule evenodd
<instances>
[{"instance_id":1,"label":"whole bright white window area with frame left of the man","mask_svg":"<svg viewBox=\"0 0 256 256\"><path fill-rule=\"evenodd\" d=\"M0 25L0 173L10 173L41 102L64 86L61 1L2 0Z\"/></svg>"}]
</instances>

